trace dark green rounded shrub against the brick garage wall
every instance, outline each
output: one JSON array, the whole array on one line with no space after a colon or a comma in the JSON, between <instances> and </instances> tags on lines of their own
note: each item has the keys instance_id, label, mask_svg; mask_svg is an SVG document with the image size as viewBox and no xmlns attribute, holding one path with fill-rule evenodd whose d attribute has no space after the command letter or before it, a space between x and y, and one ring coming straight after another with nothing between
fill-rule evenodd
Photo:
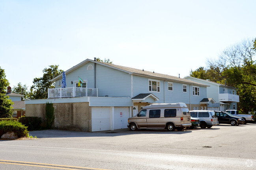
<instances>
[{"instance_id":1,"label":"dark green rounded shrub against the brick garage wall","mask_svg":"<svg viewBox=\"0 0 256 170\"><path fill-rule=\"evenodd\" d=\"M41 117L22 116L19 118L19 122L28 126L28 130L39 130L41 128L40 124L42 123L42 119Z\"/></svg>"}]
</instances>

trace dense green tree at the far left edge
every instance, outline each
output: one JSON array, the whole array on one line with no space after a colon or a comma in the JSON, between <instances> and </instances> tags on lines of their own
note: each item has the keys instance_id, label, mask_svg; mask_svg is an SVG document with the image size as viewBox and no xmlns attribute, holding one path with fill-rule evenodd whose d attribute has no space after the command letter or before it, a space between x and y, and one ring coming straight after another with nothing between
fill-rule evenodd
<instances>
[{"instance_id":1,"label":"dense green tree at the far left edge","mask_svg":"<svg viewBox=\"0 0 256 170\"><path fill-rule=\"evenodd\" d=\"M6 90L9 86L9 82L6 79L4 69L0 67L0 118L12 117L13 111L13 102L9 99L9 96L6 96Z\"/></svg>"}]
</instances>

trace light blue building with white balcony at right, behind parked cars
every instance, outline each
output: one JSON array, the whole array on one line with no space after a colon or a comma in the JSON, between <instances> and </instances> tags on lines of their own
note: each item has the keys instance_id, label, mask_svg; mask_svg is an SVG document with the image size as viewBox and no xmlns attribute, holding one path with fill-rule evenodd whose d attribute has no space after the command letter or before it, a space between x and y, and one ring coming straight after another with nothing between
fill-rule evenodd
<instances>
[{"instance_id":1,"label":"light blue building with white balcony at right, behind parked cars","mask_svg":"<svg viewBox=\"0 0 256 170\"><path fill-rule=\"evenodd\" d=\"M237 110L237 103L239 102L239 95L236 94L237 88L195 77L187 76L184 79L207 85L207 99L200 103L207 103L208 110Z\"/></svg>"}]
</instances>

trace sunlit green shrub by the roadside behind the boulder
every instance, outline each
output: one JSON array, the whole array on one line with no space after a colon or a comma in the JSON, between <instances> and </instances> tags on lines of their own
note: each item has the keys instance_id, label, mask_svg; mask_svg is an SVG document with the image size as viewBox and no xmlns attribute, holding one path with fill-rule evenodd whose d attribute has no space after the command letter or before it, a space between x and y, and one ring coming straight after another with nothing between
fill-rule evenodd
<instances>
[{"instance_id":1,"label":"sunlit green shrub by the roadside behind the boulder","mask_svg":"<svg viewBox=\"0 0 256 170\"><path fill-rule=\"evenodd\" d=\"M28 136L28 127L16 121L0 121L0 135L14 132L18 137Z\"/></svg>"}]
</instances>

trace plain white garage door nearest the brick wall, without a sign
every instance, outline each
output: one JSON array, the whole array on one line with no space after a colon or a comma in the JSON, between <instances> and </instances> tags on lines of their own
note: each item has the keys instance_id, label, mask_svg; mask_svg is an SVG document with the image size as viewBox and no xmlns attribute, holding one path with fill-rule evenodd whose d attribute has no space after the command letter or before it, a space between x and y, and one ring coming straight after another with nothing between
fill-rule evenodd
<instances>
[{"instance_id":1,"label":"plain white garage door nearest the brick wall, without a sign","mask_svg":"<svg viewBox=\"0 0 256 170\"><path fill-rule=\"evenodd\" d=\"M92 132L110 130L110 108L92 107Z\"/></svg>"}]
</instances>

